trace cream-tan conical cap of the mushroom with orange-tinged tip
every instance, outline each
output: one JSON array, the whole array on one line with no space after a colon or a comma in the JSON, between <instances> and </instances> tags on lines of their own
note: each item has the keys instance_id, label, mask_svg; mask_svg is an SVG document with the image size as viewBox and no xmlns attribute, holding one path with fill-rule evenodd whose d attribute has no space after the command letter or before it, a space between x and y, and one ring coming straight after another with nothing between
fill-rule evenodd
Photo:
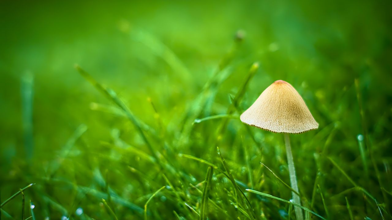
<instances>
[{"instance_id":1,"label":"cream-tan conical cap of the mushroom with orange-tinged tip","mask_svg":"<svg viewBox=\"0 0 392 220\"><path fill-rule=\"evenodd\" d=\"M302 133L318 128L318 123L292 85L272 83L245 112L241 121L277 133Z\"/></svg>"}]
</instances>

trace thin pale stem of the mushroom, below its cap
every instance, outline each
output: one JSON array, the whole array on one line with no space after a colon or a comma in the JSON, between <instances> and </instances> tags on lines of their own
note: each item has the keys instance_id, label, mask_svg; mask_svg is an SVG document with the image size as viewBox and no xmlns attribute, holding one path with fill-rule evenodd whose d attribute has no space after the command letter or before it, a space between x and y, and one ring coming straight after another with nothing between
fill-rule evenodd
<instances>
[{"instance_id":1,"label":"thin pale stem of the mushroom, below its cap","mask_svg":"<svg viewBox=\"0 0 392 220\"><path fill-rule=\"evenodd\" d=\"M290 174L290 183L291 183L291 188L294 189L295 191L298 191L298 184L297 184L297 176L295 174L295 168L294 168L294 161L293 161L293 155L291 153L291 146L290 146L290 138L289 134L285 133L285 145L286 145L286 154L287 154L287 164L289 165L289 174ZM297 205L301 205L301 199L299 198L299 195L297 195L294 192L292 193L293 197L293 202ZM297 220L303 220L303 213L300 207L295 206L294 207L295 214L297 216Z\"/></svg>"}]
</instances>

